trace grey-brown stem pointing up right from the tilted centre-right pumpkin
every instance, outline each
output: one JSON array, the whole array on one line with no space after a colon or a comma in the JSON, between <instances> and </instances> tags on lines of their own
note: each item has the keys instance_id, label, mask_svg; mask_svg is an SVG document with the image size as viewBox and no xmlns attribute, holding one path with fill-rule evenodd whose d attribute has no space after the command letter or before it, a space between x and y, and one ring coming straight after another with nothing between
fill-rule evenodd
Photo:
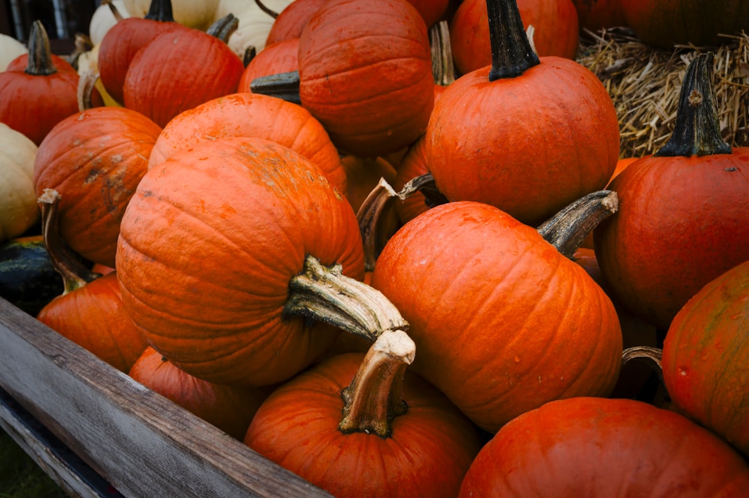
<instances>
[{"instance_id":1,"label":"grey-brown stem pointing up right from the tilted centre-right pumpkin","mask_svg":"<svg viewBox=\"0 0 749 498\"><path fill-rule=\"evenodd\" d=\"M562 255L572 258L593 228L617 210L619 198L616 192L598 190L568 204L536 230Z\"/></svg>"}]
</instances>

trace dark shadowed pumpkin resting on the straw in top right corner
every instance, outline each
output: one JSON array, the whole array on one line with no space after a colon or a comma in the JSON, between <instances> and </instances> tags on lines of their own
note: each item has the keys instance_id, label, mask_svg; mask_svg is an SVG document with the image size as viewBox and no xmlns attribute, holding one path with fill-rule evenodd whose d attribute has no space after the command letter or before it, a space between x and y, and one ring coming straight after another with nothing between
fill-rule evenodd
<instances>
[{"instance_id":1,"label":"dark shadowed pumpkin resting on the straw in top right corner","mask_svg":"<svg viewBox=\"0 0 749 498\"><path fill-rule=\"evenodd\" d=\"M645 43L661 49L676 44L717 45L749 30L749 4L742 0L619 0L626 25ZM679 19L675 22L675 19Z\"/></svg>"}]
</instances>

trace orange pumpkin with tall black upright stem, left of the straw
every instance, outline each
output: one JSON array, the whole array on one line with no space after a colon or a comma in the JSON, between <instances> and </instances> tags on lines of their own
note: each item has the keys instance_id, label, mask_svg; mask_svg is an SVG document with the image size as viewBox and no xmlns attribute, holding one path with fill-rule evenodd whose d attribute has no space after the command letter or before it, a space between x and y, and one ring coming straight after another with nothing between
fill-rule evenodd
<instances>
[{"instance_id":1,"label":"orange pumpkin with tall black upright stem, left of the straw","mask_svg":"<svg viewBox=\"0 0 749 498\"><path fill-rule=\"evenodd\" d=\"M426 130L426 159L450 201L485 202L538 225L607 183L619 121L590 70L536 57L515 0L487 5L494 61L445 88Z\"/></svg>"}]
</instances>

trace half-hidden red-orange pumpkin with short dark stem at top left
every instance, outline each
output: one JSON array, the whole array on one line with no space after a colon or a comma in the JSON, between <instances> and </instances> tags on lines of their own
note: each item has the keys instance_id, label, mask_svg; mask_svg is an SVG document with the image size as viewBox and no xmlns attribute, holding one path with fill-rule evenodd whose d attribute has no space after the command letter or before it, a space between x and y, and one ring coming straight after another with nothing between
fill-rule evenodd
<instances>
[{"instance_id":1,"label":"half-hidden red-orange pumpkin with short dark stem at top left","mask_svg":"<svg viewBox=\"0 0 749 498\"><path fill-rule=\"evenodd\" d=\"M175 22L169 0L154 0L145 17L133 14L109 28L99 44L97 68L112 98L124 103L125 76L136 53L157 34L181 29L185 28Z\"/></svg>"}]
</instances>

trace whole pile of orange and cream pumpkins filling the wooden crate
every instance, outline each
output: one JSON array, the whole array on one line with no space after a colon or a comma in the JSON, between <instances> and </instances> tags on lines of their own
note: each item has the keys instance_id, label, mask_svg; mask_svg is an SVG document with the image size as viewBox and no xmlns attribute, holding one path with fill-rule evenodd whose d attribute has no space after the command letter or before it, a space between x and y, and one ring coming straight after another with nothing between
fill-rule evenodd
<instances>
[{"instance_id":1,"label":"whole pile of orange and cream pumpkins filling the wooden crate","mask_svg":"<svg viewBox=\"0 0 749 498\"><path fill-rule=\"evenodd\" d=\"M749 25L673 3L114 0L77 67L36 22L0 273L41 295L33 249L31 314L335 496L741 496L749 149L712 52L641 158L574 61Z\"/></svg>"}]
</instances>

